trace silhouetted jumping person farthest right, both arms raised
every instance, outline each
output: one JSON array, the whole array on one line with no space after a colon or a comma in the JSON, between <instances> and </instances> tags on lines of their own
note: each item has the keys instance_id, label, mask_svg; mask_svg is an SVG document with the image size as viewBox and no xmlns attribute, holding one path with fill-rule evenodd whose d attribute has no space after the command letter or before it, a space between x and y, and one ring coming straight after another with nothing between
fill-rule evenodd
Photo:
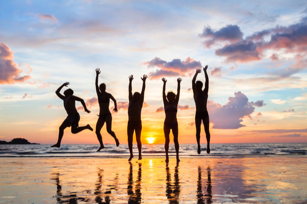
<instances>
[{"instance_id":1,"label":"silhouetted jumping person farthest right, both arms raised","mask_svg":"<svg viewBox=\"0 0 307 204\"><path fill-rule=\"evenodd\" d=\"M206 78L205 88L203 90L203 82L196 81L196 77L199 73L202 72L201 69L197 69L196 73L192 79L192 89L193 97L196 105L196 114L195 114L195 126L196 126L196 140L198 144L197 152L201 153L201 124L202 120L204 123L204 128L207 138L207 153L210 153L210 132L209 132L209 114L207 110L207 101L208 101L208 91L209 91L209 77L207 74L208 65L204 67L204 73Z\"/></svg>"}]
</instances>

